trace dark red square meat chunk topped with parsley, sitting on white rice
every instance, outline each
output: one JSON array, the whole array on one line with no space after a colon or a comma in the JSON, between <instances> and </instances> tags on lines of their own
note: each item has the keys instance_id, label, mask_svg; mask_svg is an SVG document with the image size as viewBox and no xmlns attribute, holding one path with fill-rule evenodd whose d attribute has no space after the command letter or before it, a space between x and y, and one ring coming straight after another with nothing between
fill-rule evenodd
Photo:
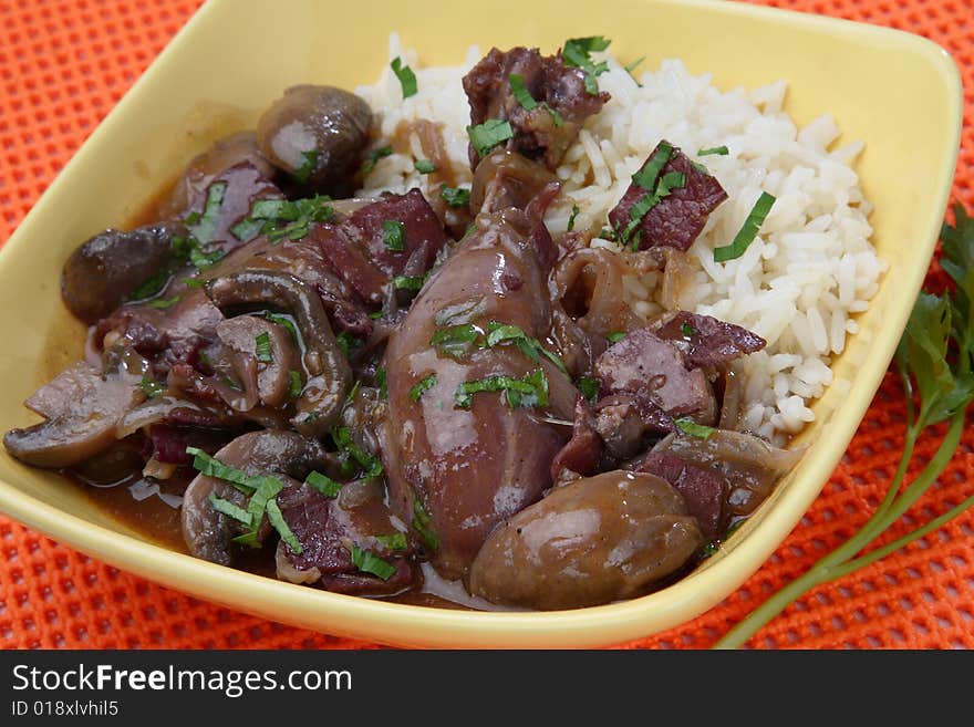
<instances>
[{"instance_id":1,"label":"dark red square meat chunk topped with parsley, sitting on white rice","mask_svg":"<svg viewBox=\"0 0 974 727\"><path fill-rule=\"evenodd\" d=\"M653 149L640 172L645 169L664 143L661 142ZM663 166L657 178L662 178L671 172L683 174L685 184L682 187L671 189L670 194L652 207L633 229L628 239L635 239L635 236L639 235L638 247L641 250L655 246L686 250L704 229L711 212L727 199L727 193L724 191L716 177L698 169L690 157L675 147L673 156ZM624 231L632 221L633 206L653 191L643 189L633 181L619 204L609 212L609 221L612 227L620 232Z\"/></svg>"}]
</instances>

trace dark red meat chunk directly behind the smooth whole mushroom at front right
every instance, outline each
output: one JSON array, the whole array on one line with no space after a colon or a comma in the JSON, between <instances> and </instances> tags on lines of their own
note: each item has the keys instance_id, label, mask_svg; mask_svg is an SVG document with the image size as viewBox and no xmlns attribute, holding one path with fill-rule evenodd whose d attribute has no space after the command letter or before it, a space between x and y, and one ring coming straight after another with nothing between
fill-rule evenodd
<instances>
[{"instance_id":1,"label":"dark red meat chunk directly behind the smooth whole mushroom at front right","mask_svg":"<svg viewBox=\"0 0 974 727\"><path fill-rule=\"evenodd\" d=\"M669 451L652 451L632 466L670 482L683 496L687 511L696 518L704 538L715 540L727 526L727 480L719 471L686 461Z\"/></svg>"}]
</instances>

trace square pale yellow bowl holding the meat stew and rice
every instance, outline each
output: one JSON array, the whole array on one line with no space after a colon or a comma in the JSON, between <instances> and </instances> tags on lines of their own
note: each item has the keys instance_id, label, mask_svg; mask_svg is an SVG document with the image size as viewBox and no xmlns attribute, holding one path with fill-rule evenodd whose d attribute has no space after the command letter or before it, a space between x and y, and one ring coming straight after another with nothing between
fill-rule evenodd
<instances>
[{"instance_id":1,"label":"square pale yellow bowl holding the meat stew and rice","mask_svg":"<svg viewBox=\"0 0 974 727\"><path fill-rule=\"evenodd\" d=\"M365 12L363 12L365 10ZM210 0L108 115L0 252L0 429L34 417L23 399L81 355L83 326L59 295L82 240L120 225L214 138L252 125L302 82L354 87L386 62L390 31L424 64L457 64L474 43L538 45L603 34L643 67L681 58L727 90L785 80L799 124L829 112L840 144L866 142L857 169L873 241L889 264L797 444L804 459L721 552L680 582L610 605L551 613L478 613L338 595L172 552L113 521L54 474L0 448L0 510L118 568L232 609L394 645L589 647L685 622L732 593L771 554L821 490L879 386L922 284L953 178L961 83L947 54L908 33L729 2L494 0L459 3Z\"/></svg>"}]
</instances>

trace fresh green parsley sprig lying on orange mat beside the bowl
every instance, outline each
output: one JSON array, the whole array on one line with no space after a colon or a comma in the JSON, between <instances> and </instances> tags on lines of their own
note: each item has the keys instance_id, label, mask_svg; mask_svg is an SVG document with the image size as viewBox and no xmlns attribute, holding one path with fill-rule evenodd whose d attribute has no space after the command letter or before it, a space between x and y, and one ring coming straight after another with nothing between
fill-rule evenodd
<instances>
[{"instance_id":1,"label":"fresh green parsley sprig lying on orange mat beside the bowl","mask_svg":"<svg viewBox=\"0 0 974 727\"><path fill-rule=\"evenodd\" d=\"M941 232L941 266L953 279L953 293L921 292L897 349L895 365L906 398L906 433L899 467L883 501L849 540L819 560L804 575L771 595L732 629L715 648L744 645L759 629L811 589L870 565L933 532L974 505L974 495L895 540L863 550L877 541L937 480L961 444L968 406L974 401L974 219L961 205L955 226ZM919 403L919 405L918 405ZM947 423L940 447L903 487L918 440L932 426Z\"/></svg>"}]
</instances>

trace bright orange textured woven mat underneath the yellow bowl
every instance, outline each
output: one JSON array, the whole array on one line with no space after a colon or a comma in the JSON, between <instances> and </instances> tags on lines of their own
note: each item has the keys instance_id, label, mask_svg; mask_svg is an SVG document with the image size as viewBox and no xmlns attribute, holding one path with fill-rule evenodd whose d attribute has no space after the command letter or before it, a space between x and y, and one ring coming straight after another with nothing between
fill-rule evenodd
<instances>
[{"instance_id":1,"label":"bright orange textured woven mat underneath the yellow bowl","mask_svg":"<svg viewBox=\"0 0 974 727\"><path fill-rule=\"evenodd\" d=\"M974 212L974 12L970 0L771 0L890 25L944 46L965 86L953 197ZM0 0L0 240L199 6L195 0ZM930 283L944 276L936 263ZM904 417L888 374L842 463L801 523L744 586L696 620L626 647L709 646L864 522L900 455ZM968 423L971 420L968 419ZM936 443L925 440L914 460ZM974 492L974 426L940 482L884 540ZM912 526L912 527L911 527ZM974 646L974 511L791 605L758 648ZM191 599L92 560L0 516L2 648L363 648Z\"/></svg>"}]
</instances>

